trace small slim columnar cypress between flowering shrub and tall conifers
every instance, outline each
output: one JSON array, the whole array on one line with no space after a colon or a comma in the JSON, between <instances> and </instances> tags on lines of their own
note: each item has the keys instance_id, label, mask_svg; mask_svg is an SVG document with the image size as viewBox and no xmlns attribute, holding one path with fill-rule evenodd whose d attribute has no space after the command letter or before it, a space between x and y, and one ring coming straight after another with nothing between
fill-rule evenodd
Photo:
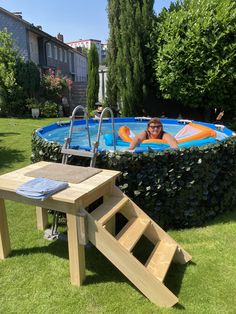
<instances>
[{"instance_id":1,"label":"small slim columnar cypress between flowering shrub and tall conifers","mask_svg":"<svg viewBox=\"0 0 236 314\"><path fill-rule=\"evenodd\" d=\"M95 109L95 103L98 101L99 91L99 58L95 44L91 45L88 53L88 85L87 85L87 107L88 110Z\"/></svg>"}]
</instances>

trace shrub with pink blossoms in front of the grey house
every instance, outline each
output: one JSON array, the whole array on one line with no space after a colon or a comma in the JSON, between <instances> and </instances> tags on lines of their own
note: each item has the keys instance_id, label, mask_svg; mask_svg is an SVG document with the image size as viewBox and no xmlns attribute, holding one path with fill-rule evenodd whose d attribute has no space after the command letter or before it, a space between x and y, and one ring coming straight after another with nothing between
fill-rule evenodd
<instances>
[{"instance_id":1,"label":"shrub with pink blossoms in front of the grey house","mask_svg":"<svg viewBox=\"0 0 236 314\"><path fill-rule=\"evenodd\" d=\"M60 71L49 69L42 77L42 87L47 99L58 101L68 90L73 82L67 76L62 76Z\"/></svg>"}]
</instances>

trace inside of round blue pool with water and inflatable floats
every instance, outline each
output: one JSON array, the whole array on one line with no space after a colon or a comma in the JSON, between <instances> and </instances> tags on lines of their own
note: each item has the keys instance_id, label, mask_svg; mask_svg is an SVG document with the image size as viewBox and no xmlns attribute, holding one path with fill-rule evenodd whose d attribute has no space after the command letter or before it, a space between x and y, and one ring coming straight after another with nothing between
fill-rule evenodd
<instances>
[{"instance_id":1,"label":"inside of round blue pool with water and inflatable floats","mask_svg":"<svg viewBox=\"0 0 236 314\"><path fill-rule=\"evenodd\" d=\"M137 133L144 131L148 120L151 118L115 118L115 146L116 150L125 151L129 147L129 142ZM224 141L226 138L235 135L223 125L216 125L204 122L176 119L161 119L164 131L176 137L179 147L202 146L214 144L217 141ZM99 119L89 119L88 128L93 144L97 140ZM45 141L56 142L63 145L65 138L69 135L70 121L60 121L50 124L36 131L37 135ZM75 120L73 122L71 148L81 148L91 150L89 145L88 130L85 120ZM169 145L161 140L147 140L141 143L134 151L143 152L149 149L163 150ZM102 121L99 150L114 150L114 136L112 133L112 121L105 118Z\"/></svg>"}]
</instances>

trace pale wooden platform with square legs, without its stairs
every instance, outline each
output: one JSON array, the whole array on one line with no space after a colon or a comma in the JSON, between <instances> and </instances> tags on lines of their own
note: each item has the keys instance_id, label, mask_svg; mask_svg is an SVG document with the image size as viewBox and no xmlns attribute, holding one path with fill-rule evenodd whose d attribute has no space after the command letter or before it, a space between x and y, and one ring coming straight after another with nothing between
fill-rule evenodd
<instances>
[{"instance_id":1,"label":"pale wooden platform with square legs, without its stairs","mask_svg":"<svg viewBox=\"0 0 236 314\"><path fill-rule=\"evenodd\" d=\"M11 252L5 199L35 205L37 226L41 230L46 227L48 209L66 213L71 283L80 286L85 279L84 243L81 244L83 241L79 240L83 238L83 230L80 230L83 228L81 224L83 210L100 197L109 195L119 172L102 170L80 183L69 182L67 189L55 193L44 201L26 198L16 193L20 185L33 179L27 175L30 171L44 168L49 164L54 163L42 161L0 176L0 259L5 259Z\"/></svg>"}]
</instances>

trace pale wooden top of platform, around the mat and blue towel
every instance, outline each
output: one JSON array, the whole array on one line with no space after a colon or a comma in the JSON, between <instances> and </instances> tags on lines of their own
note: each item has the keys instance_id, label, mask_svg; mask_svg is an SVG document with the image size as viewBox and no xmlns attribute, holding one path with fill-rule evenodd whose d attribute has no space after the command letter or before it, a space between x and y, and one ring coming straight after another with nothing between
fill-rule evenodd
<instances>
[{"instance_id":1,"label":"pale wooden top of platform, around the mat and blue towel","mask_svg":"<svg viewBox=\"0 0 236 314\"><path fill-rule=\"evenodd\" d=\"M81 198L86 197L91 193L99 193L98 190L101 190L104 186L107 185L107 183L114 181L115 178L120 174L119 171L102 169L101 172L95 174L83 182L77 184L69 182L69 187L67 189L53 194L45 201L29 199L16 194L16 189L20 185L33 179L32 176L27 176L28 172L43 168L49 164L56 165L56 163L40 161L38 163L31 164L24 168L1 175L0 197L3 199L10 199L13 201L42 206L44 208L51 208L68 212L69 207L70 209L78 207L78 202L81 200ZM86 167L84 168L86 169ZM65 210L60 210L63 208L63 206L65 206Z\"/></svg>"}]
</instances>

